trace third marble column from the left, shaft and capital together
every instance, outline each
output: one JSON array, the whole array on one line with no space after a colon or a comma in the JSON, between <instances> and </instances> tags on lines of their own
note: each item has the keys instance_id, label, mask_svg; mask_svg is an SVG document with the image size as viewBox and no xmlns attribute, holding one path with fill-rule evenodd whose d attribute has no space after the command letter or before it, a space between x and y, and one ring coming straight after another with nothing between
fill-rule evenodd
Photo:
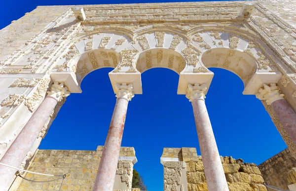
<instances>
[{"instance_id":1,"label":"third marble column from the left, shaft and capital together","mask_svg":"<svg viewBox=\"0 0 296 191\"><path fill-rule=\"evenodd\" d=\"M198 142L209 191L229 191L211 121L205 105L205 84L188 84L186 97L192 103Z\"/></svg>"}]
</instances>

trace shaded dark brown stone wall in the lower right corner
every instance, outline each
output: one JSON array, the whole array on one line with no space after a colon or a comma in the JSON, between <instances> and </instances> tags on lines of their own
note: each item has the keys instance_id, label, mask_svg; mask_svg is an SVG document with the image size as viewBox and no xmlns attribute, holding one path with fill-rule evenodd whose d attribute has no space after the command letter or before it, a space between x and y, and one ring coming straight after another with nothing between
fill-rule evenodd
<instances>
[{"instance_id":1,"label":"shaded dark brown stone wall in the lower right corner","mask_svg":"<svg viewBox=\"0 0 296 191\"><path fill-rule=\"evenodd\" d=\"M285 149L259 165L266 184L285 190L289 190L288 185L296 184L296 172L293 168L296 168L296 159L289 149Z\"/></svg>"}]
</instances>

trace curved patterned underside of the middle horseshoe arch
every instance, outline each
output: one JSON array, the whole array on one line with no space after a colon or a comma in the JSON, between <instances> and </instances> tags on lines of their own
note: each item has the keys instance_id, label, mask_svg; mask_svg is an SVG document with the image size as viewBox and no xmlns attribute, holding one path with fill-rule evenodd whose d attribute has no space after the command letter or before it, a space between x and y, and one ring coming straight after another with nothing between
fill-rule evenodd
<instances>
[{"instance_id":1,"label":"curved patterned underside of the middle horseshoe arch","mask_svg":"<svg viewBox=\"0 0 296 191\"><path fill-rule=\"evenodd\" d=\"M139 55L136 68L144 73L150 68L168 68L180 74L186 66L184 57L177 51L165 48L154 48Z\"/></svg>"}]
</instances>

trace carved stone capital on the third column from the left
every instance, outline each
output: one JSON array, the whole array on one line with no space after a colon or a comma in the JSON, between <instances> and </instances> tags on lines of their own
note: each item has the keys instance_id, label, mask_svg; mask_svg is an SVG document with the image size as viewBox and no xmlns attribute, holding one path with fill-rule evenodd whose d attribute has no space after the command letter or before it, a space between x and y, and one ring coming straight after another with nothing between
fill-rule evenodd
<instances>
[{"instance_id":1,"label":"carved stone capital on the third column from the left","mask_svg":"<svg viewBox=\"0 0 296 191\"><path fill-rule=\"evenodd\" d=\"M188 83L186 98L189 99L189 102L192 102L195 99L205 100L206 91L207 91L207 86L205 83L202 83L202 84L194 83L193 85L191 83Z\"/></svg>"}]
</instances>

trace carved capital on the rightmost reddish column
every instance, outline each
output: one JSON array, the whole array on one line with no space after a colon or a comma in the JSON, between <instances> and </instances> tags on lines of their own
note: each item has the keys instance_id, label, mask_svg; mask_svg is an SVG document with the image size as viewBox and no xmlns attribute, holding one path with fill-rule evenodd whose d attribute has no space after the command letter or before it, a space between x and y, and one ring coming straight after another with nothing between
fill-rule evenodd
<instances>
[{"instance_id":1,"label":"carved capital on the rightmost reddish column","mask_svg":"<svg viewBox=\"0 0 296 191\"><path fill-rule=\"evenodd\" d=\"M260 87L256 97L259 100L263 100L267 105L271 105L277 100L284 100L284 94L281 94L279 86L276 83L270 83L269 85L263 83L263 87Z\"/></svg>"}]
</instances>

